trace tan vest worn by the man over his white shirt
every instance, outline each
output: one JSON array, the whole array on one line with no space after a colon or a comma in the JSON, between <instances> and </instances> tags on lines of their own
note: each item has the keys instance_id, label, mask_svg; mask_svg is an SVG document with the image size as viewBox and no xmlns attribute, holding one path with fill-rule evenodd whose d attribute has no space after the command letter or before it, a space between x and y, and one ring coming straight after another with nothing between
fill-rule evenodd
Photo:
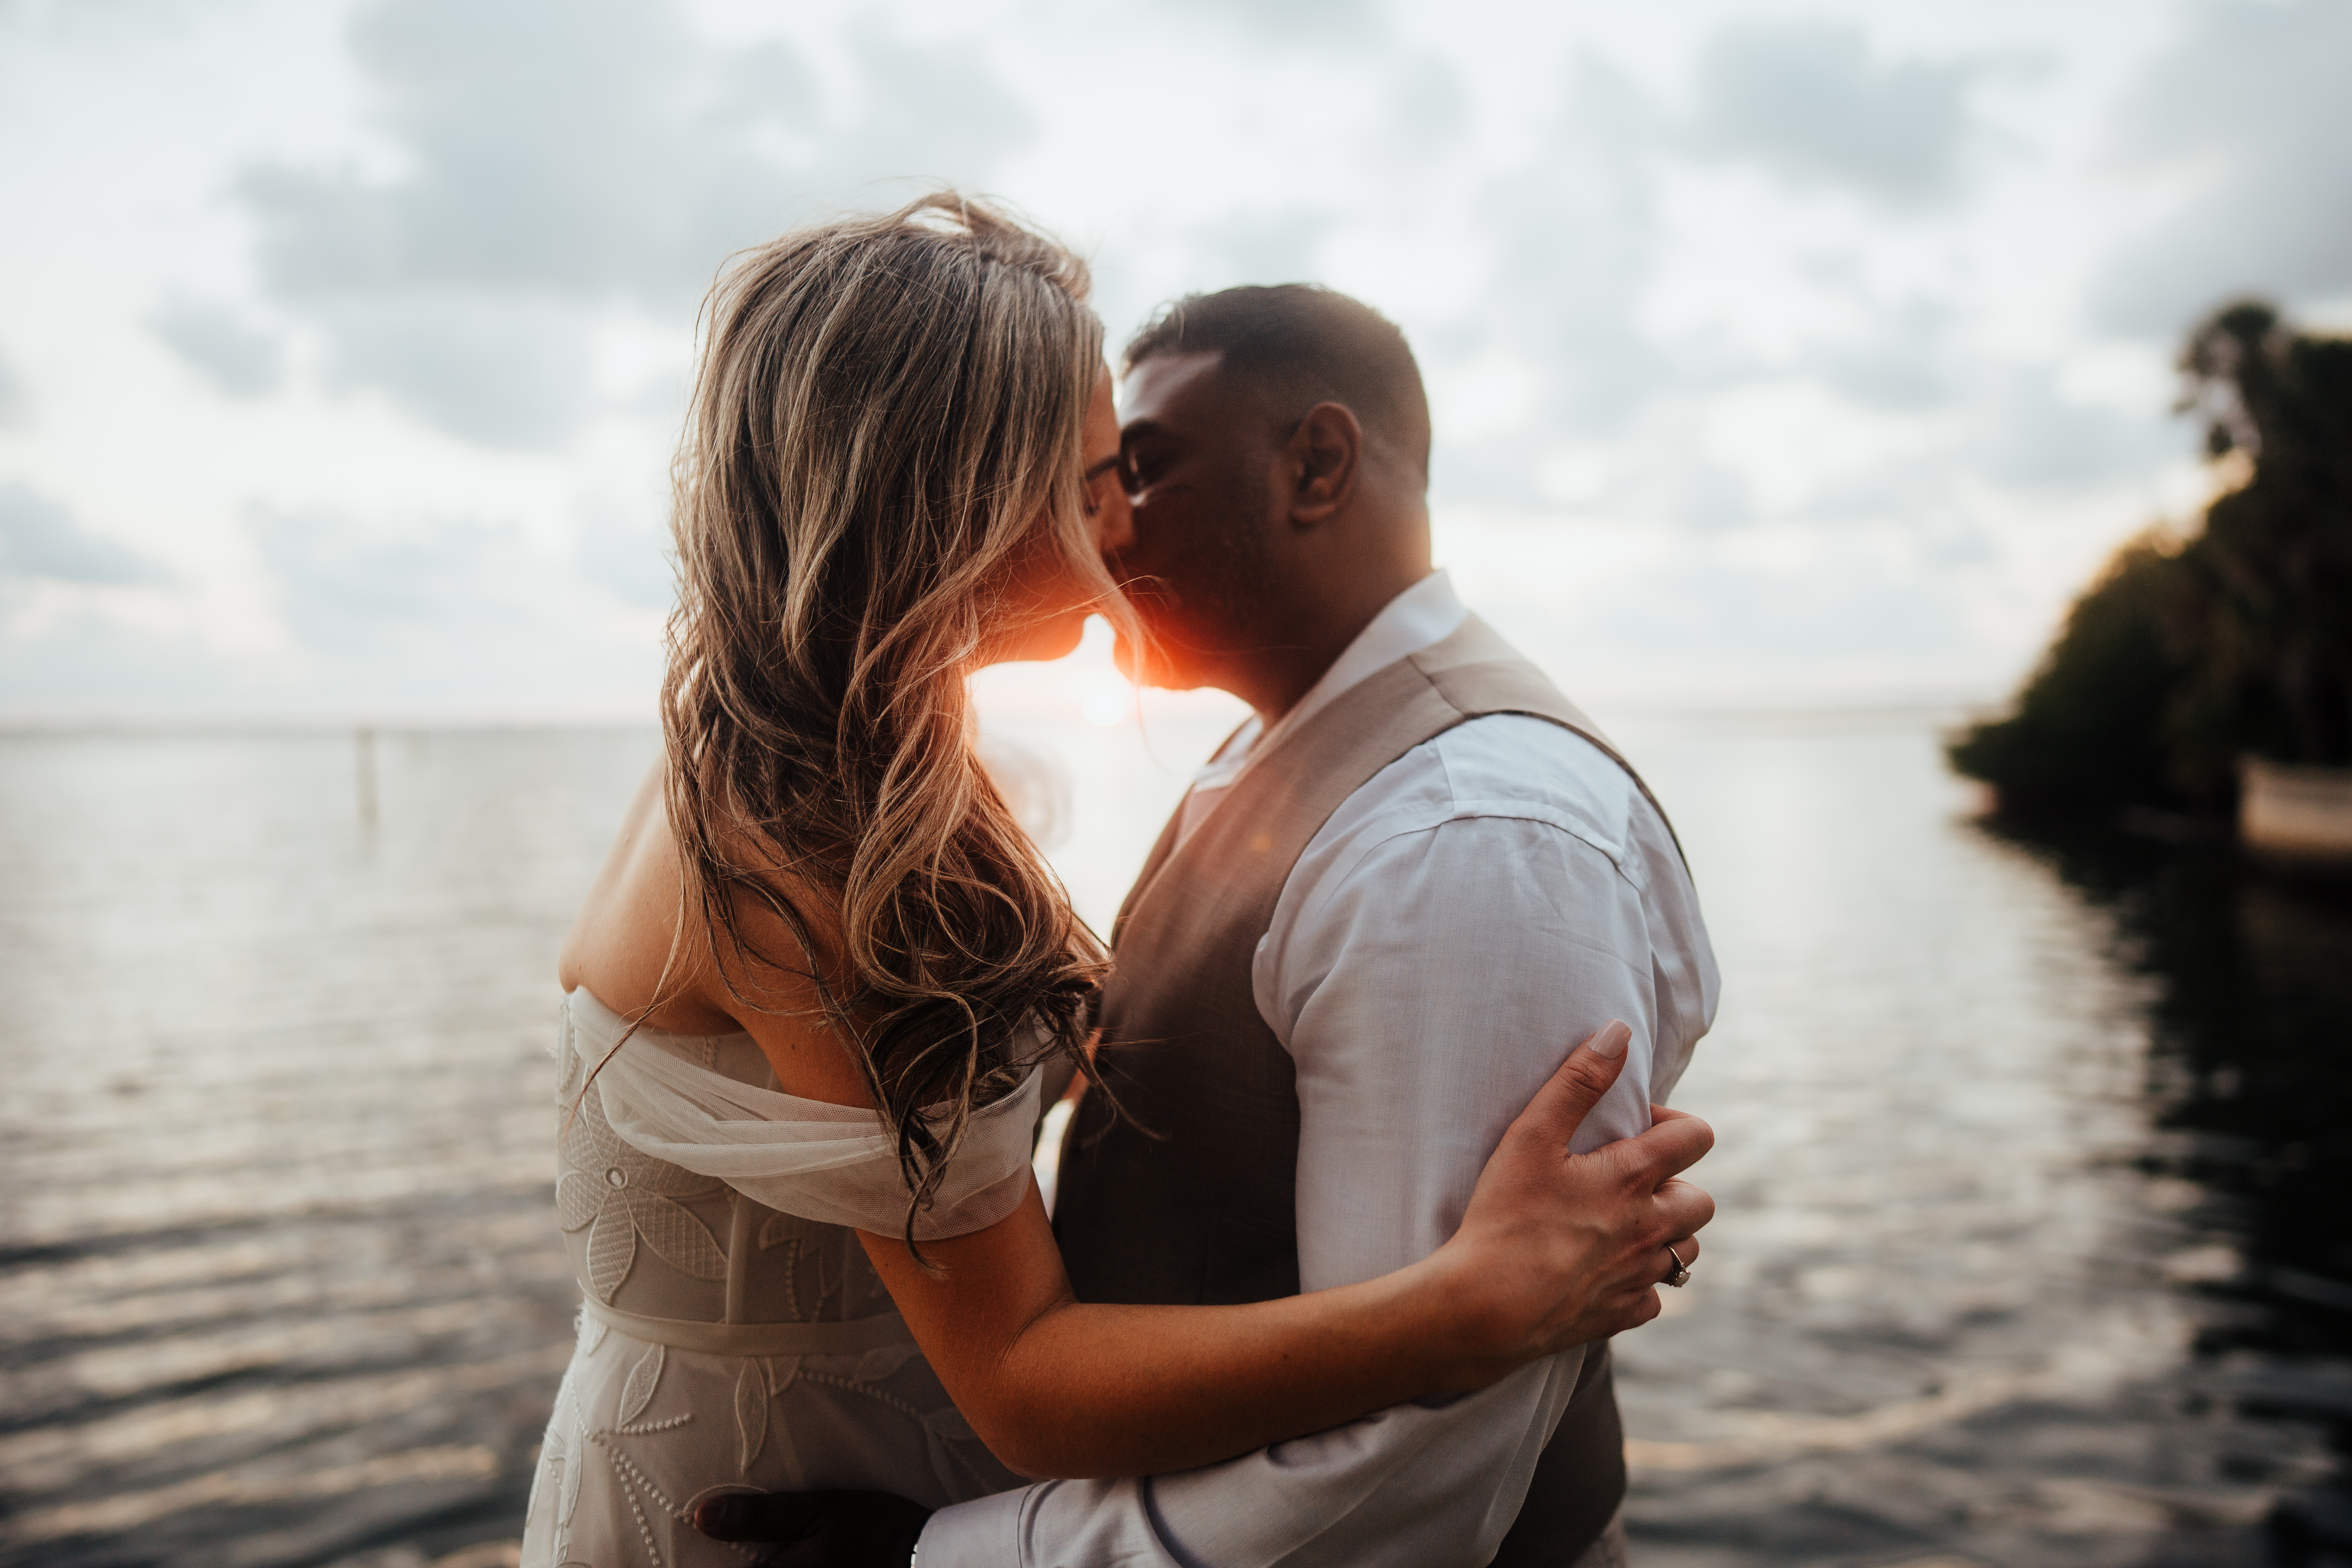
<instances>
[{"instance_id":1,"label":"tan vest worn by the man over his white shirt","mask_svg":"<svg viewBox=\"0 0 2352 1568\"><path fill-rule=\"evenodd\" d=\"M1494 712L1550 719L1632 773L1592 719L1470 616L1282 736L1181 849L1183 811L1169 818L1112 926L1117 969L1103 987L1096 1053L1112 1095L1080 1103L1061 1150L1054 1232L1080 1300L1216 1305L1298 1293L1298 1091L1291 1053L1258 1016L1258 938L1291 865L1341 802L1423 741ZM1112 1114L1110 1098L1124 1114ZM1571 1563L1623 1493L1602 1347L1585 1356L1494 1561Z\"/></svg>"}]
</instances>

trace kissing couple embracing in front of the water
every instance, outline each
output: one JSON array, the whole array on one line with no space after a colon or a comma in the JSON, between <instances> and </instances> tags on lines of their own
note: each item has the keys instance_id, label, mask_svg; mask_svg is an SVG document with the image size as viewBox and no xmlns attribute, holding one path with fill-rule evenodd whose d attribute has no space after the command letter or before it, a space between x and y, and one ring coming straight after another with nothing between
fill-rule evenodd
<instances>
[{"instance_id":1,"label":"kissing couple embracing in front of the water","mask_svg":"<svg viewBox=\"0 0 2352 1568\"><path fill-rule=\"evenodd\" d=\"M1715 1211L1675 835L1430 569L1390 322L1192 296L1124 400L1084 263L955 193L722 275L560 961L524 1563L1623 1561L1606 1340ZM967 693L1089 614L1254 710L1108 947Z\"/></svg>"}]
</instances>

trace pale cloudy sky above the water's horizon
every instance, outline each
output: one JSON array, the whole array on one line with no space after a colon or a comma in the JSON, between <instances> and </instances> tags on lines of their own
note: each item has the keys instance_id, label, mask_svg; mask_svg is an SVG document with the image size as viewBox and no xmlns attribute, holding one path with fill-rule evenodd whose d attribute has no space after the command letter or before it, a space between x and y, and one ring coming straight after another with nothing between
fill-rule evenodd
<instances>
[{"instance_id":1,"label":"pale cloudy sky above the water's horizon","mask_svg":"<svg viewBox=\"0 0 2352 1568\"><path fill-rule=\"evenodd\" d=\"M913 181L1112 339L1411 334L1439 548L1599 705L1985 698L2352 327L2352 7L0 0L0 715L644 715L720 259Z\"/></svg>"}]
</instances>

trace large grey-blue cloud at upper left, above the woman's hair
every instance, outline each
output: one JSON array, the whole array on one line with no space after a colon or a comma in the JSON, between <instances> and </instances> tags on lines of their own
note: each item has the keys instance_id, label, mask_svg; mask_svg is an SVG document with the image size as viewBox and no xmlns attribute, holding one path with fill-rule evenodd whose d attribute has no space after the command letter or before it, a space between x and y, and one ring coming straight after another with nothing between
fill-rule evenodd
<instances>
[{"instance_id":1,"label":"large grey-blue cloud at upper left, above the woman's hair","mask_svg":"<svg viewBox=\"0 0 2352 1568\"><path fill-rule=\"evenodd\" d=\"M856 101L783 42L720 47L661 0L402 0L350 52L393 172L254 162L268 294L334 374L452 435L562 447L616 308L680 315L811 197L974 179L1023 132L967 61L854 33ZM953 134L941 134L950 129Z\"/></svg>"}]
</instances>

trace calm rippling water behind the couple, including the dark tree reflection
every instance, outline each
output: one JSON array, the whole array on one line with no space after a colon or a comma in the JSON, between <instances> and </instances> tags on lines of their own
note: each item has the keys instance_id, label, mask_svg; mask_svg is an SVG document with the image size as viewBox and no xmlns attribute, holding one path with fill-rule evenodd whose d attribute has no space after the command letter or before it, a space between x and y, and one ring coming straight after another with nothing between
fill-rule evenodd
<instances>
[{"instance_id":1,"label":"calm rippling water behind the couple, including the dark tree reflection","mask_svg":"<svg viewBox=\"0 0 2352 1568\"><path fill-rule=\"evenodd\" d=\"M1618 1342L1642 1563L2291 1561L2352 1425L2352 903L1978 825L1924 719L1623 731L1726 997L1722 1218ZM1181 769L1016 738L1101 914ZM513 1561L550 954L652 750L0 736L0 1566Z\"/></svg>"}]
</instances>

